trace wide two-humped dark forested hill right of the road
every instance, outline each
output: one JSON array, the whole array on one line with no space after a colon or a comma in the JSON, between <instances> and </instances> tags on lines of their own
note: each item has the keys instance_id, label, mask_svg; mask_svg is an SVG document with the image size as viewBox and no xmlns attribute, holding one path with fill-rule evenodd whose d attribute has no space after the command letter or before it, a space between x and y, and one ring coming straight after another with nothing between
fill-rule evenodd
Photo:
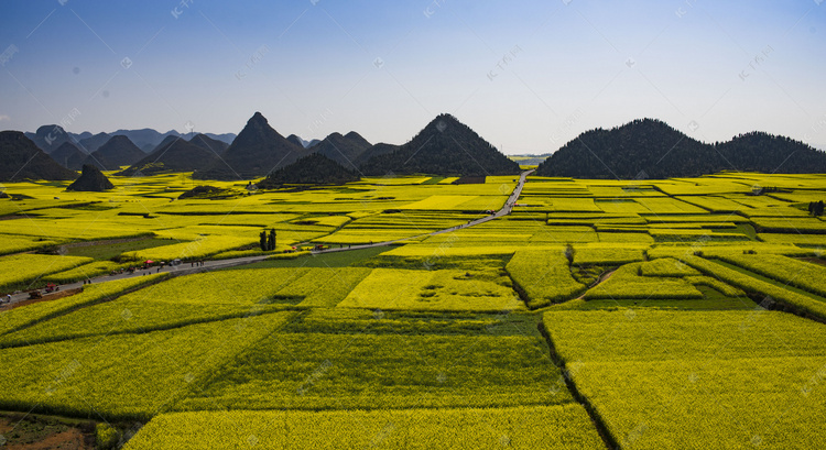
<instances>
[{"instance_id":1,"label":"wide two-humped dark forested hill right of the road","mask_svg":"<svg viewBox=\"0 0 826 450\"><path fill-rule=\"evenodd\" d=\"M536 175L633 179L720 171L826 173L826 153L767 133L707 144L662 121L641 119L580 134L540 164Z\"/></svg>"}]
</instances>

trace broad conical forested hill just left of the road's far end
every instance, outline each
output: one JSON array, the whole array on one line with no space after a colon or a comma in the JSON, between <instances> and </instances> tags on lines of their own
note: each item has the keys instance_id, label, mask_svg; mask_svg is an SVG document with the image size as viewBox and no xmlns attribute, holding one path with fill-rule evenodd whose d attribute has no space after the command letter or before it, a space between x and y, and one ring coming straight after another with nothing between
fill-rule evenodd
<instances>
[{"instance_id":1,"label":"broad conical forested hill just left of the road's far end","mask_svg":"<svg viewBox=\"0 0 826 450\"><path fill-rule=\"evenodd\" d=\"M510 161L474 130L450 114L436 117L398 150L378 154L359 167L365 175L515 175Z\"/></svg>"}]
</instances>

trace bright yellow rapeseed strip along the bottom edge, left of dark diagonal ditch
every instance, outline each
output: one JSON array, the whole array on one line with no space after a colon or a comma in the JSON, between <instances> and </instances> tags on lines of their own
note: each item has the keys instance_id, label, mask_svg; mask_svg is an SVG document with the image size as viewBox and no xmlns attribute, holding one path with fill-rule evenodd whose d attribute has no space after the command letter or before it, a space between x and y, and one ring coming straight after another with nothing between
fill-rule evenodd
<instances>
[{"instance_id":1,"label":"bright yellow rapeseed strip along the bottom edge, left of dark diagonal ditch","mask_svg":"<svg viewBox=\"0 0 826 450\"><path fill-rule=\"evenodd\" d=\"M215 433L214 430L226 430ZM602 441L579 405L384 411L220 411L165 414L129 450L296 449L594 449Z\"/></svg>"}]
</instances>

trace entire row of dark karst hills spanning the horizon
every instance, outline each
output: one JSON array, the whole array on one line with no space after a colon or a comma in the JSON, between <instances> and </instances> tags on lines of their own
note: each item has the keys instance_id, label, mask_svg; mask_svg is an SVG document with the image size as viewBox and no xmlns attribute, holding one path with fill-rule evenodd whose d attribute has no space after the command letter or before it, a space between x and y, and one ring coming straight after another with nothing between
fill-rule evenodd
<instances>
[{"instance_id":1,"label":"entire row of dark karst hills spanning the horizon","mask_svg":"<svg viewBox=\"0 0 826 450\"><path fill-rule=\"evenodd\" d=\"M387 174L514 175L525 157L510 158L450 114L441 114L402 145L371 144L360 134L332 133L324 140L284 138L256 112L241 132L182 136L171 131L119 130L113 134L73 134L58 125L44 125L34 133L3 132L2 157L10 171L4 176L40 179L74 179L83 165L113 171L119 175L193 172L194 178L254 180L267 177L309 155L287 171L307 173L312 164L324 164L329 183L346 174L329 167L327 160L358 176ZM130 138L131 135L131 138ZM235 136L235 139L231 139ZM227 142L227 141L231 142ZM151 142L156 142L149 147ZM143 144L141 147L140 144ZM37 150L37 152L33 152ZM43 160L48 153L48 164ZM32 158L24 171L11 161ZM525 155L528 156L528 155ZM789 138L762 132L741 134L727 142L704 143L654 119L634 120L610 130L582 133L540 163L536 175L577 178L670 178L691 177L719 171L764 173L826 173L826 153ZM48 158L47 158L48 160ZM25 160L28 161L28 160ZM55 169L55 165L70 169ZM2 168L2 167L0 167ZM300 169L300 171L298 171ZM20 173L18 173L20 172ZM314 177L309 177L313 178ZM334 179L335 178L335 179ZM10 178L7 178L7 180ZM283 172L279 180L294 179ZM322 183L322 182L318 182Z\"/></svg>"}]
</instances>

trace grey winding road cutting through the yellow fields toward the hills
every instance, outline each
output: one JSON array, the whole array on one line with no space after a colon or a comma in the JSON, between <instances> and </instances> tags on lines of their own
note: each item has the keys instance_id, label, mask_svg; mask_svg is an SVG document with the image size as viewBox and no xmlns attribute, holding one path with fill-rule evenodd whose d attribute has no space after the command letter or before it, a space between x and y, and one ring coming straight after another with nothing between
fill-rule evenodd
<instances>
[{"instance_id":1,"label":"grey winding road cutting through the yellow fields toward the hills","mask_svg":"<svg viewBox=\"0 0 826 450\"><path fill-rule=\"evenodd\" d=\"M509 213L511 213L511 211L513 211L513 207L517 205L517 200L522 195L522 188L525 185L525 179L533 172L534 171L525 171L519 176L519 183L513 188L513 191L511 193L510 197L508 197L508 200L506 200L504 205L502 206L500 210L496 211L492 215L485 216L480 219L472 220L468 223L464 223L464 224L448 228L445 230L434 231L432 233L425 233L425 234L414 235L414 237L404 238L404 239L396 239L394 241L374 242L374 243L362 244L362 245L350 245L350 246L340 248L340 249L316 250L316 251L313 251L312 253L323 254L323 253L334 253L334 252L347 252L347 251L359 250L359 249L372 249L377 246L387 246L387 245L391 245L394 243L407 241L410 239L449 233L452 231L461 230L461 229L469 228L469 227L476 227L478 224L489 222L494 219L499 219L501 217L508 216ZM227 267L235 267L239 265L259 263L259 262L265 261L270 256L272 255L236 257L231 260L218 260L218 261L204 261L203 263L200 263L200 265L192 265L191 263L183 263L176 266L165 266L165 267L162 267L160 271L157 270L157 267L152 267L151 270L148 270L148 271L135 271L133 274L124 273L124 274L118 274L118 275L101 275L101 276L91 278L91 284L113 282L117 279L124 279L124 278L134 278L138 276L145 276L145 275L156 274L156 273L170 273L173 276L189 275L194 273L215 271L218 268L227 268ZM84 286L83 282L77 282L77 283L61 285L59 288L61 290L69 290L69 289L75 289L75 288L83 287L83 286ZM2 300L6 300L6 299L2 299ZM3 304L2 306L0 306L0 311L7 310L11 306L19 304L19 303L26 301L26 300L29 300L28 293L12 294L11 305ZM45 296L44 300L47 301L48 297Z\"/></svg>"}]
</instances>

